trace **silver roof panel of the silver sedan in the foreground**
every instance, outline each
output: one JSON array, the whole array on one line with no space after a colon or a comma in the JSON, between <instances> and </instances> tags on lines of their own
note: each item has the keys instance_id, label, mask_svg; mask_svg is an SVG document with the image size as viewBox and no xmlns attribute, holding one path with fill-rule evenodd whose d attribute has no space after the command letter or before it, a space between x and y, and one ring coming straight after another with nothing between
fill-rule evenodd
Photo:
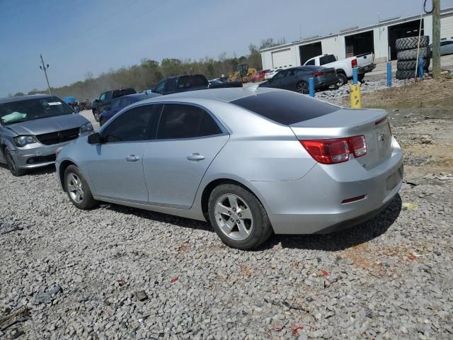
<instances>
[{"instance_id":1,"label":"silver roof panel of the silver sedan in the foreground","mask_svg":"<svg viewBox=\"0 0 453 340\"><path fill-rule=\"evenodd\" d=\"M231 101L236 101L237 99L254 96L256 94L263 94L265 92L279 91L276 89L260 87L258 89L257 85L252 85L248 87L235 87L235 88L226 88L226 89L206 89L206 90L197 90L197 91L186 91L180 92L178 94L168 94L166 96L159 96L156 98L150 98L147 101L178 101L178 98L181 100L187 100L190 98L197 99L212 99L215 101L225 101L227 103Z\"/></svg>"}]
</instances>

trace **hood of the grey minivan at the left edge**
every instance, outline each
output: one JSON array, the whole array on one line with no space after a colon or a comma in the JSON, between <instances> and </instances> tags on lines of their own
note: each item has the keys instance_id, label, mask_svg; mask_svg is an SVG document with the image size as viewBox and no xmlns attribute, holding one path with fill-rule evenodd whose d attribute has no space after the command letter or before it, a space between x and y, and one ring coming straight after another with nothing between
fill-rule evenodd
<instances>
[{"instance_id":1,"label":"hood of the grey minivan at the left edge","mask_svg":"<svg viewBox=\"0 0 453 340\"><path fill-rule=\"evenodd\" d=\"M84 116L73 113L71 115L56 115L55 117L28 120L28 122L8 125L7 128L18 135L41 135L78 128L85 123L88 123L88 120Z\"/></svg>"}]
</instances>

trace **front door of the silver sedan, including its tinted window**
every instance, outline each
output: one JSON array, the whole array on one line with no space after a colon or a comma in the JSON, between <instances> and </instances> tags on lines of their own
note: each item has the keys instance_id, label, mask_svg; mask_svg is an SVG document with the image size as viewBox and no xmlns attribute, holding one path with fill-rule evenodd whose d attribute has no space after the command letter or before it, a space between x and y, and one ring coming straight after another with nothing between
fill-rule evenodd
<instances>
[{"instance_id":1,"label":"front door of the silver sedan, including its tinted window","mask_svg":"<svg viewBox=\"0 0 453 340\"><path fill-rule=\"evenodd\" d=\"M143 155L151 138L153 110L149 105L131 108L99 132L101 145L91 145L86 155L96 196L148 203Z\"/></svg>"}]
</instances>

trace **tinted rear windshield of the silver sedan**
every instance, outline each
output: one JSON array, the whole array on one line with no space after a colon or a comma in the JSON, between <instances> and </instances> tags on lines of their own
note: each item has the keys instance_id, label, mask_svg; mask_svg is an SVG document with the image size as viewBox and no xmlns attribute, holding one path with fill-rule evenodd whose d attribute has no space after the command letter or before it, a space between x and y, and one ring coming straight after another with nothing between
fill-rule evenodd
<instances>
[{"instance_id":1,"label":"tinted rear windshield of the silver sedan","mask_svg":"<svg viewBox=\"0 0 453 340\"><path fill-rule=\"evenodd\" d=\"M333 106L292 91L272 91L231 101L276 123L291 125L338 111Z\"/></svg>"}]
</instances>

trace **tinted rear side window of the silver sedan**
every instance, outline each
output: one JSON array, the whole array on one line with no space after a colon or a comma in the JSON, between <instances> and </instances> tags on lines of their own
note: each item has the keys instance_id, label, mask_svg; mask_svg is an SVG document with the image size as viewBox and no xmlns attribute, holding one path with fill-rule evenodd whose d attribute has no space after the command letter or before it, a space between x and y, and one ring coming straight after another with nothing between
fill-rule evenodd
<instances>
[{"instance_id":1,"label":"tinted rear side window of the silver sedan","mask_svg":"<svg viewBox=\"0 0 453 340\"><path fill-rule=\"evenodd\" d=\"M202 108L182 104L166 104L157 128L158 140L219 135L222 130L214 118Z\"/></svg>"}]
</instances>

